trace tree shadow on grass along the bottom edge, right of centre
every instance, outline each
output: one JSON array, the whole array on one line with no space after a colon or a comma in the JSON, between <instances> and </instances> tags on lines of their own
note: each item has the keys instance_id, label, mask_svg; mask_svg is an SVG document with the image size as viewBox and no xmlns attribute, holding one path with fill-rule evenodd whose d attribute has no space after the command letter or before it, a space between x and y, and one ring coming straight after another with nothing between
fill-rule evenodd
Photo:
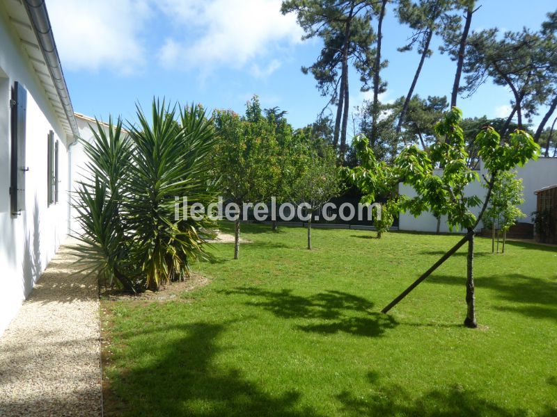
<instances>
[{"instance_id":1,"label":"tree shadow on grass along the bottom edge, right of centre","mask_svg":"<svg viewBox=\"0 0 557 417\"><path fill-rule=\"evenodd\" d=\"M382 385L377 375L368 375L372 393L366 397L355 396L350 391L337 395L342 413L346 416L527 416L526 409L505 409L482 398L476 391L462 386L427 391L423 395L412 395L398 384ZM556 410L544 407L542 416L556 416Z\"/></svg>"}]
</instances>

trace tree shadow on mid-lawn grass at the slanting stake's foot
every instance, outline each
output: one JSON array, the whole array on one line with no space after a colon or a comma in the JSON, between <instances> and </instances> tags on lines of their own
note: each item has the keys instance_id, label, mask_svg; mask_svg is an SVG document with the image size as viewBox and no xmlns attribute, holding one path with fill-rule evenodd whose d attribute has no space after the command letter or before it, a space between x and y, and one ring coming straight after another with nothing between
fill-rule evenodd
<instances>
[{"instance_id":1,"label":"tree shadow on mid-lawn grass at the slanting stake's foot","mask_svg":"<svg viewBox=\"0 0 557 417\"><path fill-rule=\"evenodd\" d=\"M285 319L311 320L298 324L304 332L335 334L343 332L355 336L381 336L398 322L392 316L372 311L369 300L343 291L324 291L309 296L295 295L292 290L269 291L256 287L236 288L226 294L247 295L256 300L246 302L270 311Z\"/></svg>"}]
</instances>

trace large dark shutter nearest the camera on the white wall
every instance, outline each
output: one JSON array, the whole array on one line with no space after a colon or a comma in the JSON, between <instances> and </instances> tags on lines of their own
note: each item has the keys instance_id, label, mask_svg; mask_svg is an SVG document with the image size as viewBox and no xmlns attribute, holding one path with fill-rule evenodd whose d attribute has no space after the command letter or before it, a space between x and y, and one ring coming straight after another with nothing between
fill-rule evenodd
<instances>
[{"instance_id":1,"label":"large dark shutter nearest the camera on the white wall","mask_svg":"<svg viewBox=\"0 0 557 417\"><path fill-rule=\"evenodd\" d=\"M25 210L25 124L27 91L17 81L12 90L12 158L10 172L10 205L12 214Z\"/></svg>"}]
</instances>

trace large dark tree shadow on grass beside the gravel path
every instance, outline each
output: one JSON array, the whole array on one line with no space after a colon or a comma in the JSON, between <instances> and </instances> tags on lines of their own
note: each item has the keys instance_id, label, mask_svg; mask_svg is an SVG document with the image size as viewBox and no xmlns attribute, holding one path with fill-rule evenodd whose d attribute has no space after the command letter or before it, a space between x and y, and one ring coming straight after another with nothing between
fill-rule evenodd
<instances>
[{"instance_id":1,"label":"large dark tree shadow on grass beside the gravel path","mask_svg":"<svg viewBox=\"0 0 557 417\"><path fill-rule=\"evenodd\" d=\"M156 332L185 334L168 343L145 343L141 355L148 366L118 369L105 392L106 416L316 416L301 407L301 394L268 393L242 376L242 370L214 363L227 347L219 337L230 323L196 322L162 327ZM138 336L143 332L139 330ZM129 335L130 336L130 335ZM137 342L135 343L137 345ZM132 362L133 363L133 362Z\"/></svg>"}]
</instances>

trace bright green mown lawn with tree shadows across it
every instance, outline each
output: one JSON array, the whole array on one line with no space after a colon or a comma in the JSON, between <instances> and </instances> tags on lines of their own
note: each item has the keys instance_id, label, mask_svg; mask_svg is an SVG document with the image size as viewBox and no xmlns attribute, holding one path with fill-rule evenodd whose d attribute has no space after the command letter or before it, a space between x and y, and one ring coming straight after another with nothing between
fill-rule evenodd
<instances>
[{"instance_id":1,"label":"bright green mown lawn with tree shadows across it","mask_svg":"<svg viewBox=\"0 0 557 417\"><path fill-rule=\"evenodd\" d=\"M107 415L557 416L557 248L478 238L472 330L465 248L379 313L458 236L242 229L209 285L103 302Z\"/></svg>"}]
</instances>

